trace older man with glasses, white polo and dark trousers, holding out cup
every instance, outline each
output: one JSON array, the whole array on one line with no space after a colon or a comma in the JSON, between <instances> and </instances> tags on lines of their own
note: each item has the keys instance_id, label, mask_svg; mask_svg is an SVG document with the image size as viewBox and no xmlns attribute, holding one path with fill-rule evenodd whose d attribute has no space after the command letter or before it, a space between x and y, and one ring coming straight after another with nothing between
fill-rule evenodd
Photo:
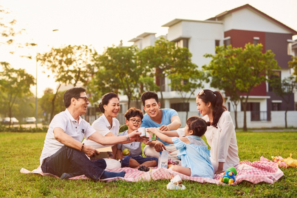
<instances>
[{"instance_id":1,"label":"older man with glasses, white polo and dark trousers, holding out cup","mask_svg":"<svg viewBox=\"0 0 297 198\"><path fill-rule=\"evenodd\" d=\"M140 132L134 131L126 136L108 137L96 132L80 115L86 113L89 99L86 90L73 87L64 94L66 110L55 115L50 122L40 156L42 172L51 173L61 179L86 175L92 180L124 177L125 172L105 171L103 159L89 160L99 152L92 146L81 143L83 137L102 145L128 143L136 140Z\"/></svg>"}]
</instances>

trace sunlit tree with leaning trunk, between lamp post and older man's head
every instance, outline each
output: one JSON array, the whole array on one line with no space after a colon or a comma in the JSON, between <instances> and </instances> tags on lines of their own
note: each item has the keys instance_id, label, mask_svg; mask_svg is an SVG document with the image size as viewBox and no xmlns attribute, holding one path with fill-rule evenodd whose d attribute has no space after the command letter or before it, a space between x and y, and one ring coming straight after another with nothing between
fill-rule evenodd
<instances>
[{"instance_id":1,"label":"sunlit tree with leaning trunk, between lamp post and older man's head","mask_svg":"<svg viewBox=\"0 0 297 198\"><path fill-rule=\"evenodd\" d=\"M68 45L63 48L52 48L48 53L38 54L37 60L53 73L55 81L59 83L51 101L50 120L55 112L55 100L61 84L76 86L77 83L86 84L89 80L87 66L91 62L92 51L86 45Z\"/></svg>"}]
</instances>

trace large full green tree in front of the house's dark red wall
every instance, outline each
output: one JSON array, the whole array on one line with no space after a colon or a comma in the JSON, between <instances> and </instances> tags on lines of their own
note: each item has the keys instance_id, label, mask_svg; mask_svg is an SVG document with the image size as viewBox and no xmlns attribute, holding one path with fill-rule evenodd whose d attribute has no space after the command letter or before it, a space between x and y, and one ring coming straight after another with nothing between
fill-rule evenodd
<instances>
[{"instance_id":1,"label":"large full green tree in front of the house's dark red wall","mask_svg":"<svg viewBox=\"0 0 297 198\"><path fill-rule=\"evenodd\" d=\"M279 69L277 61L274 59L274 53L271 50L263 53L262 48L262 44L253 45L250 43L246 44L244 49L233 48L231 45L224 49L221 46L216 48L216 55L205 55L212 60L208 66L204 66L204 69L208 70L216 80L221 79L224 83L228 83L229 80L230 84L233 83L233 89L241 93L239 99L244 109L244 131L247 131L246 109L250 92L260 83L268 80L267 77L272 74L273 69ZM229 72L230 75L228 75Z\"/></svg>"}]
</instances>

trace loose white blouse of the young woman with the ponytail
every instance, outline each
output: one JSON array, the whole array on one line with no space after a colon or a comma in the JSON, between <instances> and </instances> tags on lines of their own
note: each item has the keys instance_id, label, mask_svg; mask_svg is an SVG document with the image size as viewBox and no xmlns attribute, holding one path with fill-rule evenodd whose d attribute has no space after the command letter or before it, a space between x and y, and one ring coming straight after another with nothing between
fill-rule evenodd
<instances>
[{"instance_id":1,"label":"loose white blouse of the young woman with the ponytail","mask_svg":"<svg viewBox=\"0 0 297 198\"><path fill-rule=\"evenodd\" d=\"M207 115L203 116L202 119L206 122L209 121ZM239 163L235 127L229 111L222 113L217 127L208 126L205 137L211 147L211 159L216 162L224 162L223 170L225 171Z\"/></svg>"}]
</instances>

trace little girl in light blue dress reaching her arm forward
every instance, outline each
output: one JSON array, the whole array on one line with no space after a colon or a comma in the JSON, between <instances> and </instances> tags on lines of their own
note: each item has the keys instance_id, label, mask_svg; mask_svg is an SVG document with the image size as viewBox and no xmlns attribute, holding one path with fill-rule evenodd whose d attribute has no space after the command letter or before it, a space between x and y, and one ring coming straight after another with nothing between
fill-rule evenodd
<instances>
[{"instance_id":1,"label":"little girl in light blue dress reaching her arm forward","mask_svg":"<svg viewBox=\"0 0 297 198\"><path fill-rule=\"evenodd\" d=\"M191 177L214 178L214 168L210 161L208 146L201 139L207 126L203 119L192 116L187 119L184 137L168 137L156 128L148 128L161 140L174 144L178 149L177 157L181 159L181 166L174 166L172 170Z\"/></svg>"}]
</instances>

